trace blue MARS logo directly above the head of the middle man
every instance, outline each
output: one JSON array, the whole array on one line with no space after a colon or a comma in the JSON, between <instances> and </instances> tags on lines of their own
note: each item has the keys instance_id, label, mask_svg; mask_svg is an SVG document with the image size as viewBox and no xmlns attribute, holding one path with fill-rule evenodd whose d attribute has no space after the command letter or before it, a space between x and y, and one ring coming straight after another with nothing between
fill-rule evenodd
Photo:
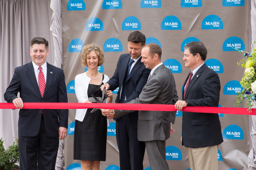
<instances>
[{"instance_id":1,"label":"blue MARS logo directly above the head of the middle man","mask_svg":"<svg viewBox=\"0 0 256 170\"><path fill-rule=\"evenodd\" d=\"M135 16L128 16L122 23L122 30L141 30L141 23Z\"/></svg>"}]
</instances>

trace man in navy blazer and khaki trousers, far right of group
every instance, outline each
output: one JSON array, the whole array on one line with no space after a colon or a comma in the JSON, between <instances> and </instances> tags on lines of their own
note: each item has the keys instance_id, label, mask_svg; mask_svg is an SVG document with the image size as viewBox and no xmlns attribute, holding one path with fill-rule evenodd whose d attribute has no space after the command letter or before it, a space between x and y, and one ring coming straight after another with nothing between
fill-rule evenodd
<instances>
[{"instance_id":1,"label":"man in navy blazer and khaki trousers, far right of group","mask_svg":"<svg viewBox=\"0 0 256 170\"><path fill-rule=\"evenodd\" d=\"M193 41L184 48L183 61L191 71L183 85L182 100L177 101L175 108L182 111L186 106L218 107L220 79L204 63L204 44ZM217 155L223 142L218 114L183 112L181 141L187 148L191 170L218 170Z\"/></svg>"}]
</instances>

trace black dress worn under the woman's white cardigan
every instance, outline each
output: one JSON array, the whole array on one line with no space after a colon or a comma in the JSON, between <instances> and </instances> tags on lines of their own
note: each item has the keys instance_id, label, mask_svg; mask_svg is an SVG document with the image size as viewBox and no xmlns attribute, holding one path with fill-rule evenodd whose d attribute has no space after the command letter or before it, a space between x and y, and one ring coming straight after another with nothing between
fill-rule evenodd
<instances>
[{"instance_id":1,"label":"black dress worn under the woman's white cardigan","mask_svg":"<svg viewBox=\"0 0 256 170\"><path fill-rule=\"evenodd\" d=\"M89 84L88 97L102 97L102 84ZM74 159L106 161L107 118L100 109L93 113L91 111L92 108L87 109L83 122L75 122Z\"/></svg>"}]
</instances>

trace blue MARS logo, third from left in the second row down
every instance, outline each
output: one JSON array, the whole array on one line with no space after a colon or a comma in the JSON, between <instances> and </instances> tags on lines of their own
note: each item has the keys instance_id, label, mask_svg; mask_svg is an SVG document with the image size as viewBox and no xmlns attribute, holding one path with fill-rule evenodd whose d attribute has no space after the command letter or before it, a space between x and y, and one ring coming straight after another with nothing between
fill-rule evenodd
<instances>
[{"instance_id":1,"label":"blue MARS logo, third from left in the second row down","mask_svg":"<svg viewBox=\"0 0 256 170\"><path fill-rule=\"evenodd\" d=\"M181 30L181 22L176 16L166 16L161 22L161 30Z\"/></svg>"}]
</instances>

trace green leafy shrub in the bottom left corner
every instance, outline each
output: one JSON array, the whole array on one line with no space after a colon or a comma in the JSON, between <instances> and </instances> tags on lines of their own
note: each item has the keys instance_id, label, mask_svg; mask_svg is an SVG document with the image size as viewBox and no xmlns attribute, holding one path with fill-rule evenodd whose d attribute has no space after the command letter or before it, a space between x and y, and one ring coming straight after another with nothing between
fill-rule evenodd
<instances>
[{"instance_id":1,"label":"green leafy shrub in the bottom left corner","mask_svg":"<svg viewBox=\"0 0 256 170\"><path fill-rule=\"evenodd\" d=\"M19 140L16 139L12 146L4 149L4 141L0 140L0 170L10 170L14 168L19 160Z\"/></svg>"}]
</instances>

